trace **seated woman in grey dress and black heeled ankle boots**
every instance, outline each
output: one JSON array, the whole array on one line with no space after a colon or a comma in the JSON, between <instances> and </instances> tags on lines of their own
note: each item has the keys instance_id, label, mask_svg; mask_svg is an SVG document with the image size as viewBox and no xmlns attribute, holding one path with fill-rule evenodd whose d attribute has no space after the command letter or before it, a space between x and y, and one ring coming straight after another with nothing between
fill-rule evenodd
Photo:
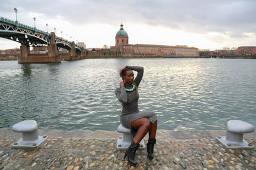
<instances>
[{"instance_id":1,"label":"seated woman in grey dress and black heeled ankle boots","mask_svg":"<svg viewBox=\"0 0 256 170\"><path fill-rule=\"evenodd\" d=\"M135 80L132 70L138 72ZM115 90L116 97L123 106L120 121L124 127L131 129L132 136L134 137L124 156L124 158L127 156L128 162L132 166L136 166L138 163L134 160L135 153L140 146L140 141L147 132L149 134L147 155L150 160L154 158L154 144L156 143L156 114L151 111L139 111L138 108L138 87L143 76L143 71L143 67L138 66L125 66L120 69L120 76L123 81L120 82L120 88Z\"/></svg>"}]
</instances>

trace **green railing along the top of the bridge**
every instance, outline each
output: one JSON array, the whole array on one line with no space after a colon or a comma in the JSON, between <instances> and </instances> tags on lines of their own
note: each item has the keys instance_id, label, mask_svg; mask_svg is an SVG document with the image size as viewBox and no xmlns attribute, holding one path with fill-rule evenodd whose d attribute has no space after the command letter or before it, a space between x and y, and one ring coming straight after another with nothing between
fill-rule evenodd
<instances>
[{"instance_id":1,"label":"green railing along the top of the bridge","mask_svg":"<svg viewBox=\"0 0 256 170\"><path fill-rule=\"evenodd\" d=\"M40 33L42 33L42 34L46 34L47 36L51 36L51 33L49 33L49 32L45 32L45 31L42 31L42 30L40 30L40 29L36 29L35 27L30 27L29 25L21 24L21 23L19 23L19 22L10 20L10 19L8 19L8 18L4 18L4 17L1 17L1 16L0 16L0 20L1 20L2 22L6 22L6 23L8 23L8 24L16 25L17 27L23 27L24 29L29 29L29 30L31 30L31 31L40 32ZM67 42L70 43L70 44L72 43L72 41L68 41L67 39L60 38L59 36L56 36L56 38L61 39L61 40L63 40L63 41L67 41ZM79 47L79 48L81 48L81 46L78 46L78 45L76 45L76 46Z\"/></svg>"}]
</instances>

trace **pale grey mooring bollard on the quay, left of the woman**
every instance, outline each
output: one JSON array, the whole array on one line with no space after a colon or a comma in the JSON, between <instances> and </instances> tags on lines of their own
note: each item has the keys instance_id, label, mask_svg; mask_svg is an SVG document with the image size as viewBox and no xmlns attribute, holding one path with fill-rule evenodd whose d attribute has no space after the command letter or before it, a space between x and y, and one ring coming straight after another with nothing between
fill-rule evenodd
<instances>
[{"instance_id":1,"label":"pale grey mooring bollard on the quay, left of the woman","mask_svg":"<svg viewBox=\"0 0 256 170\"><path fill-rule=\"evenodd\" d=\"M24 120L12 126L12 131L21 132L22 139L13 143L13 148L39 146L47 136L38 136L37 122L35 120Z\"/></svg>"}]
</instances>

